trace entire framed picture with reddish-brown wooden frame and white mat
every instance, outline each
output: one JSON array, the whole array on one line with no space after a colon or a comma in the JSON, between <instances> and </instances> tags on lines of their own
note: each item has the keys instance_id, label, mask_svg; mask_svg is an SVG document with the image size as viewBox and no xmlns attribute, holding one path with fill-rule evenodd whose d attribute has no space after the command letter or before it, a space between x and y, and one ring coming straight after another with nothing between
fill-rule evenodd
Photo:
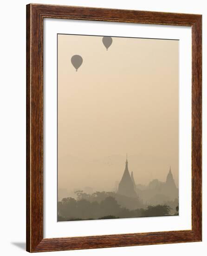
<instances>
[{"instance_id":1,"label":"entire framed picture with reddish-brown wooden frame and white mat","mask_svg":"<svg viewBox=\"0 0 207 256\"><path fill-rule=\"evenodd\" d=\"M201 15L26 6L26 250L201 241Z\"/></svg>"}]
</instances>

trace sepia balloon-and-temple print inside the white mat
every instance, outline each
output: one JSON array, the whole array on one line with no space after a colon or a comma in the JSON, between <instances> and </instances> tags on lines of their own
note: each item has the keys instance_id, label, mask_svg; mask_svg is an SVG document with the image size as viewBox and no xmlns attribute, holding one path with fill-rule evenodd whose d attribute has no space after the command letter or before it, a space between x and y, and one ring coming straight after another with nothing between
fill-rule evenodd
<instances>
[{"instance_id":1,"label":"sepia balloon-and-temple print inside the white mat","mask_svg":"<svg viewBox=\"0 0 207 256\"><path fill-rule=\"evenodd\" d=\"M58 34L58 221L179 214L178 70L178 40Z\"/></svg>"}]
</instances>

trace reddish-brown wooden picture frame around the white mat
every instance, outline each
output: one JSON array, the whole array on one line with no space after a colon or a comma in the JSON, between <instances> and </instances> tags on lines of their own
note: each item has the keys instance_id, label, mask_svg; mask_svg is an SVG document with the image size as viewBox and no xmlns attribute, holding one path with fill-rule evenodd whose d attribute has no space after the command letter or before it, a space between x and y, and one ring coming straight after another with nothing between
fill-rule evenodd
<instances>
[{"instance_id":1,"label":"reddish-brown wooden picture frame around the white mat","mask_svg":"<svg viewBox=\"0 0 207 256\"><path fill-rule=\"evenodd\" d=\"M43 20L73 19L192 28L192 229L121 235L43 238ZM201 221L201 15L70 7L26 6L26 250L92 249L198 242Z\"/></svg>"}]
</instances>

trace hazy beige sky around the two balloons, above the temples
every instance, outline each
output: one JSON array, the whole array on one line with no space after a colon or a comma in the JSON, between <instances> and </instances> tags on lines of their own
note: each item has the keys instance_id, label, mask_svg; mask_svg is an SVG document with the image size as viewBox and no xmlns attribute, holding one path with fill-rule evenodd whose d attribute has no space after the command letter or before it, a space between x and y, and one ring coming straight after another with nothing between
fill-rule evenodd
<instances>
[{"instance_id":1,"label":"hazy beige sky around the two balloons, above the temples","mask_svg":"<svg viewBox=\"0 0 207 256\"><path fill-rule=\"evenodd\" d=\"M136 183L178 185L179 41L112 39L58 35L58 189L112 189L126 153Z\"/></svg>"}]
</instances>

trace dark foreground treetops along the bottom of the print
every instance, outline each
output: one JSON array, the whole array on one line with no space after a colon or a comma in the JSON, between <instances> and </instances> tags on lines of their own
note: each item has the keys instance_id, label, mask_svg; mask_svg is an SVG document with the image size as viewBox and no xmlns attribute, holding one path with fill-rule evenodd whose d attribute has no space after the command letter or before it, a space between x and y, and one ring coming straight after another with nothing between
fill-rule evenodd
<instances>
[{"instance_id":1,"label":"dark foreground treetops along the bottom of the print","mask_svg":"<svg viewBox=\"0 0 207 256\"><path fill-rule=\"evenodd\" d=\"M77 200L71 197L58 202L58 221L136 218L169 215L168 205L148 206L146 209L128 209L120 205L112 192L96 192L92 195L78 191ZM93 200L92 200L93 199ZM97 199L97 200L96 200Z\"/></svg>"}]
</instances>

